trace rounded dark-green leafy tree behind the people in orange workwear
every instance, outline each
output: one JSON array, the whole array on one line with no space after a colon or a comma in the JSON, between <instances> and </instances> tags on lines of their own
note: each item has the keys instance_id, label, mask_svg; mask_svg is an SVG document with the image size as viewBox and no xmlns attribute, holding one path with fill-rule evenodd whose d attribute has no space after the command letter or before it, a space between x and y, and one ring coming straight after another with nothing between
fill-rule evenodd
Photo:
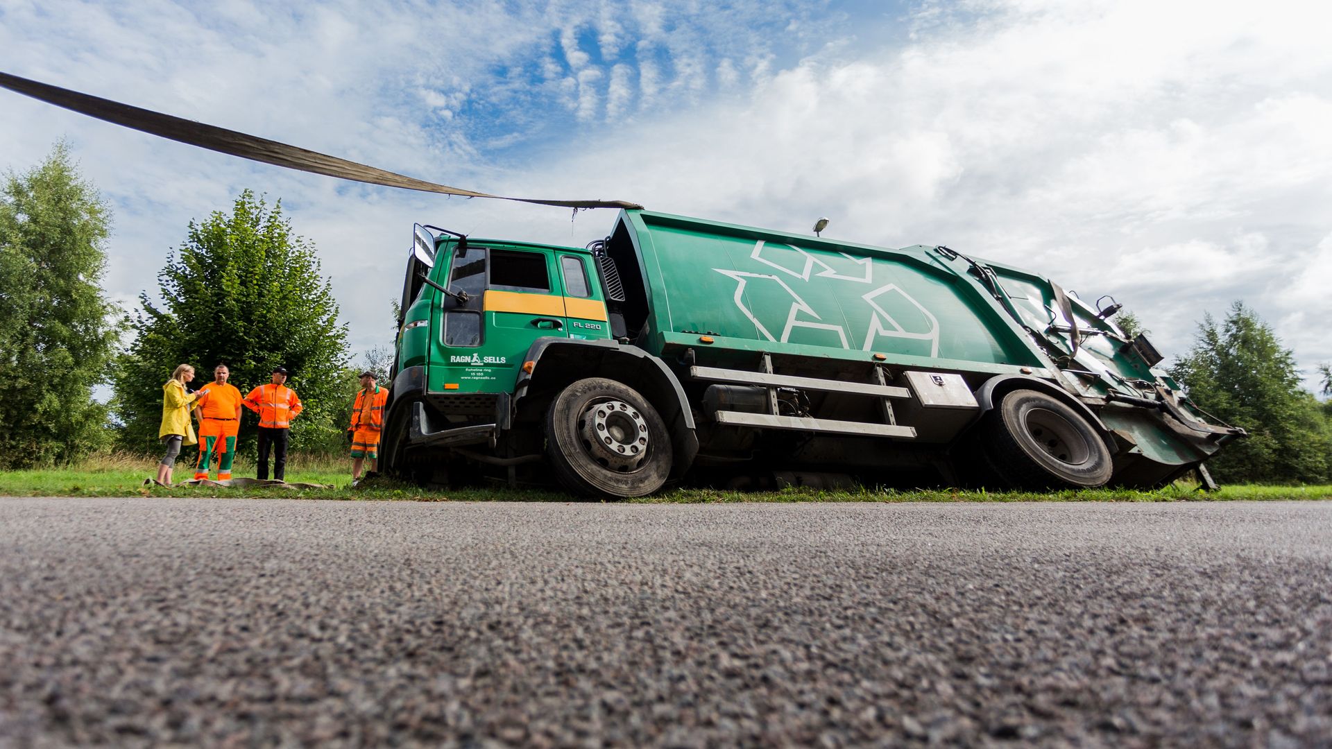
<instances>
[{"instance_id":1,"label":"rounded dark-green leafy tree behind the people in orange workwear","mask_svg":"<svg viewBox=\"0 0 1332 749\"><path fill-rule=\"evenodd\" d=\"M314 247L293 233L282 204L269 207L242 192L230 215L190 221L185 243L157 275L161 307L140 295L137 333L116 376L116 410L127 445L156 444L161 385L177 364L193 364L194 386L226 364L242 393L270 380L274 367L290 371L289 385L305 410L292 421L293 449L340 444L334 414L342 405L346 327L321 275ZM254 442L246 410L242 449Z\"/></svg>"}]
</instances>

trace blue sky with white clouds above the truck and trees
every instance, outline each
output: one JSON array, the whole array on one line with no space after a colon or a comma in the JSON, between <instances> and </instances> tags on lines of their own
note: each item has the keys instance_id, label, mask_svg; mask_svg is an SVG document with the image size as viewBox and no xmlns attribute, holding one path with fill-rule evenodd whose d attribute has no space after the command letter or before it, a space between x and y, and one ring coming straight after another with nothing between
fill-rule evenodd
<instances>
[{"instance_id":1,"label":"blue sky with white clouds above the truck and trees","mask_svg":"<svg viewBox=\"0 0 1332 749\"><path fill-rule=\"evenodd\" d=\"M468 189L1034 269L1167 364L1235 300L1332 361L1332 7L1168 0L0 0L0 71ZM68 140L137 307L245 188L389 345L412 224L583 245L615 215L358 185L0 91L0 168ZM208 311L200 311L206 315Z\"/></svg>"}]
</instances>

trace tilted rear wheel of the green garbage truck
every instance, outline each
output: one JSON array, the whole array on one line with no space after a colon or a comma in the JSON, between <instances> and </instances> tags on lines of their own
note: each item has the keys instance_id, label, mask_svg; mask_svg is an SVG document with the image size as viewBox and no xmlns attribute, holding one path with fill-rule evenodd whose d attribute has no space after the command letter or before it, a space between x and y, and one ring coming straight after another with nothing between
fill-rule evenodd
<instances>
[{"instance_id":1,"label":"tilted rear wheel of the green garbage truck","mask_svg":"<svg viewBox=\"0 0 1332 749\"><path fill-rule=\"evenodd\" d=\"M1096 428L1036 390L1006 393L979 436L991 472L1016 489L1090 489L1114 470Z\"/></svg>"}]
</instances>

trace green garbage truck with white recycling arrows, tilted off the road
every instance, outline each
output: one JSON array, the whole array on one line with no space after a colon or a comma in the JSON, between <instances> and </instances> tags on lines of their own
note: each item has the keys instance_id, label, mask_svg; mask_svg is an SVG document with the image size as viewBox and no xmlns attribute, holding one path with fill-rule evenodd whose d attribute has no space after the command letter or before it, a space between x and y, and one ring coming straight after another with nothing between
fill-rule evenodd
<instances>
[{"instance_id":1,"label":"green garbage truck with white recycling arrows, tilted off the road","mask_svg":"<svg viewBox=\"0 0 1332 749\"><path fill-rule=\"evenodd\" d=\"M417 225L381 470L591 497L1205 476L1243 429L1098 304L947 247L642 209L586 248Z\"/></svg>"}]
</instances>

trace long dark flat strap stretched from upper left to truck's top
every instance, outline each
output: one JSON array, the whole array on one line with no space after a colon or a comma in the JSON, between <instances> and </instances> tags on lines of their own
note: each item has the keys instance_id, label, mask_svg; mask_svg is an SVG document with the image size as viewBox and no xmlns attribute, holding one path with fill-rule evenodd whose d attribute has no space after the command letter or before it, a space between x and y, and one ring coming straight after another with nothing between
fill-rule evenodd
<instances>
[{"instance_id":1,"label":"long dark flat strap stretched from upper left to truck's top","mask_svg":"<svg viewBox=\"0 0 1332 749\"><path fill-rule=\"evenodd\" d=\"M197 145L198 148L217 151L218 153L229 153L252 161L273 164L274 167L298 169L301 172L313 172L316 175L325 175L356 183L416 189L421 192L437 192L444 195L460 195L464 197L490 197L496 200L513 200L517 203L534 203L537 205L557 205L561 208L642 208L642 205L623 200L541 200L534 197L509 197L503 195L490 195L428 183L425 180L386 172L384 169L357 164L356 161L348 161L346 159L338 159L337 156L329 156L317 151L297 148L276 140L268 140L265 137L229 131L216 125L196 123L194 120L185 120L182 117L153 112L152 109L121 104L120 101L112 101L109 99L79 93L77 91L69 91L67 88L45 83L21 79L9 73L0 73L0 88L8 88L9 91L23 93L24 96L31 96L40 101L55 104L56 107L64 107L65 109L72 109L81 115L88 115L89 117L97 117L99 120L105 120L108 123L115 123L117 125L178 143Z\"/></svg>"}]
</instances>

